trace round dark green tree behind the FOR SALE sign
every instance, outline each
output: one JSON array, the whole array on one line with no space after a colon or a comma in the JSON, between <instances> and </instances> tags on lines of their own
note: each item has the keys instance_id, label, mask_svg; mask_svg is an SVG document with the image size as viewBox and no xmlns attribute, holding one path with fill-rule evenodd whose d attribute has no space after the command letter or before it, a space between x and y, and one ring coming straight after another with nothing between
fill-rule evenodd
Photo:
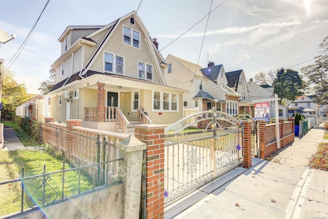
<instances>
[{"instance_id":1,"label":"round dark green tree behind the FOR SALE sign","mask_svg":"<svg viewBox=\"0 0 328 219\"><path fill-rule=\"evenodd\" d=\"M275 93L281 99L293 101L297 96L304 94L302 90L305 88L305 82L298 72L292 69L277 69L277 77L272 85Z\"/></svg>"}]
</instances>

